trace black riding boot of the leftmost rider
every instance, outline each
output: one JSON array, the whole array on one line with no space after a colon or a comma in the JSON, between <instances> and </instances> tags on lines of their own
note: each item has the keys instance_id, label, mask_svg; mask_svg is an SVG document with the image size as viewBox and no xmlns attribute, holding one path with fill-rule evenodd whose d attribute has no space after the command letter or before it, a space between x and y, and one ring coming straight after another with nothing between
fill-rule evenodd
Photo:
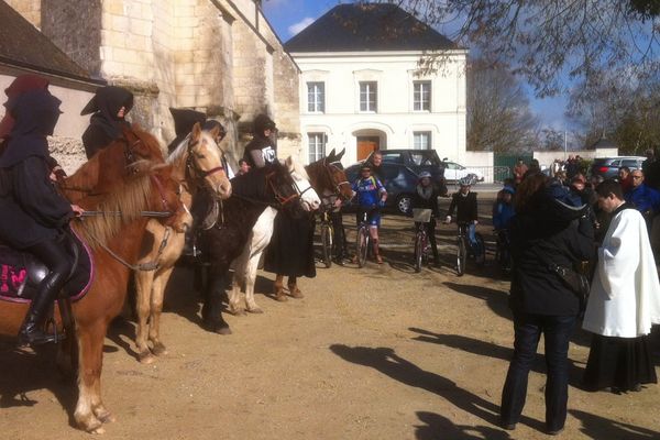
<instances>
[{"instance_id":1,"label":"black riding boot of the leftmost rider","mask_svg":"<svg viewBox=\"0 0 660 440\"><path fill-rule=\"evenodd\" d=\"M55 342L54 334L44 332L44 324L46 323L48 310L59 294L58 275L55 274L50 279L44 279L43 285L40 286L19 331L20 345L41 345Z\"/></svg>"}]
</instances>

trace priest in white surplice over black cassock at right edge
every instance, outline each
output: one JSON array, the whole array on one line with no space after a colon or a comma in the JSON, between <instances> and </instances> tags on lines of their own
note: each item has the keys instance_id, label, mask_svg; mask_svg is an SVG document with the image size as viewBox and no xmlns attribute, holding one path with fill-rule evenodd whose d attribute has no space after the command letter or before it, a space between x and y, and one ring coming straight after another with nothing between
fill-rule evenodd
<instances>
[{"instance_id":1,"label":"priest in white surplice over black cassock at right edge","mask_svg":"<svg viewBox=\"0 0 660 440\"><path fill-rule=\"evenodd\" d=\"M613 393L657 383L648 334L660 323L660 284L644 217L624 201L622 188L596 188L601 209L613 213L598 249L583 328L594 333L584 386Z\"/></svg>"}]
</instances>

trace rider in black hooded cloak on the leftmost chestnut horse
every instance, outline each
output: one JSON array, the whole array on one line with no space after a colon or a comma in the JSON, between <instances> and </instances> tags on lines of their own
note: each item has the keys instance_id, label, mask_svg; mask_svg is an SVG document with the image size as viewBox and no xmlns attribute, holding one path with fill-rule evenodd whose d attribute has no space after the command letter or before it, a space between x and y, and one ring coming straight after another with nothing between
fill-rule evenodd
<instances>
[{"instance_id":1,"label":"rider in black hooded cloak on the leftmost chestnut horse","mask_svg":"<svg viewBox=\"0 0 660 440\"><path fill-rule=\"evenodd\" d=\"M82 210L54 188L46 136L59 118L59 99L47 90L21 95L8 111L15 123L0 156L0 240L34 254L50 270L19 332L21 344L54 340L43 331L46 314L72 272L64 242L68 221Z\"/></svg>"}]
</instances>

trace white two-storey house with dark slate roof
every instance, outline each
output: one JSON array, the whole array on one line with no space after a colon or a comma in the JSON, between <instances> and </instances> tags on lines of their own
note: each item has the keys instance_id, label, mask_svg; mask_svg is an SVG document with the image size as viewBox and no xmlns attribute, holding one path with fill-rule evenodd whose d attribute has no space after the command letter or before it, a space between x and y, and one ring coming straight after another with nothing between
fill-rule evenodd
<instances>
[{"instance_id":1,"label":"white two-storey house with dark slate roof","mask_svg":"<svg viewBox=\"0 0 660 440\"><path fill-rule=\"evenodd\" d=\"M344 147L344 164L374 148L433 148L464 162L468 52L430 26L394 4L340 4L284 46L301 70L309 162ZM420 75L429 51L449 54L449 63Z\"/></svg>"}]
</instances>

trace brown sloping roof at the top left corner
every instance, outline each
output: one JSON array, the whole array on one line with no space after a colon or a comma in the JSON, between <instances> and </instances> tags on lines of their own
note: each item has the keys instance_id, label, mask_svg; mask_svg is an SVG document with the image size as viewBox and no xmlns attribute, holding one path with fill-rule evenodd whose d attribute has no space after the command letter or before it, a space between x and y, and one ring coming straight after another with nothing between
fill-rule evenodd
<instances>
[{"instance_id":1,"label":"brown sloping roof at the top left corner","mask_svg":"<svg viewBox=\"0 0 660 440\"><path fill-rule=\"evenodd\" d=\"M91 80L46 35L0 0L0 63L68 78ZM98 80L92 80L98 82Z\"/></svg>"}]
</instances>

